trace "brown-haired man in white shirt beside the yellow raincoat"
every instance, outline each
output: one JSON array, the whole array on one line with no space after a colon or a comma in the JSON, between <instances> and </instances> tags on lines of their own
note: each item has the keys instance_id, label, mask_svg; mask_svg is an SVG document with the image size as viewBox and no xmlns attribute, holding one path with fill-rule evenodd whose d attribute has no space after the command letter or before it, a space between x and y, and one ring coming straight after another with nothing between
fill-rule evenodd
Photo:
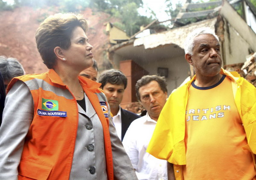
<instances>
[{"instance_id":1,"label":"brown-haired man in white shirt beside the yellow raincoat","mask_svg":"<svg viewBox=\"0 0 256 180\"><path fill-rule=\"evenodd\" d=\"M139 180L168 180L167 161L146 152L157 119L166 103L166 86L165 78L156 75L143 76L135 85L137 98L147 114L131 123L123 145Z\"/></svg>"}]
</instances>

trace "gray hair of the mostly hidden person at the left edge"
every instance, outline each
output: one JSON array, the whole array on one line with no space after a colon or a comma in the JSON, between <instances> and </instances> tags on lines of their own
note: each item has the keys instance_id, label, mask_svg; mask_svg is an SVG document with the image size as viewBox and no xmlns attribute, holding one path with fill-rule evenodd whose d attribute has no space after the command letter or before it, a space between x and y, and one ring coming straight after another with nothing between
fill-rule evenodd
<instances>
[{"instance_id":1,"label":"gray hair of the mostly hidden person at the left edge","mask_svg":"<svg viewBox=\"0 0 256 180\"><path fill-rule=\"evenodd\" d=\"M17 59L6 56L0 56L0 72L4 81L11 81L12 78L25 74L25 70Z\"/></svg>"}]
</instances>

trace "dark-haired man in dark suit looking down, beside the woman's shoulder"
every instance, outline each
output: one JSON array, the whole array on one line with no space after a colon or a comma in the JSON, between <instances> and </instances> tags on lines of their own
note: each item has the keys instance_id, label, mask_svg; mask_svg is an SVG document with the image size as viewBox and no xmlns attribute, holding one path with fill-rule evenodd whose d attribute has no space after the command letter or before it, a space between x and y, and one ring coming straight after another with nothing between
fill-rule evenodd
<instances>
[{"instance_id":1,"label":"dark-haired man in dark suit looking down, beside the woman's shoulder","mask_svg":"<svg viewBox=\"0 0 256 180\"><path fill-rule=\"evenodd\" d=\"M139 115L123 110L120 107L125 88L127 87L127 78L120 70L105 70L99 76L99 83L102 84L101 88L108 99L113 115L113 123L116 127L117 135L122 141L131 122L134 119L140 118Z\"/></svg>"}]
</instances>

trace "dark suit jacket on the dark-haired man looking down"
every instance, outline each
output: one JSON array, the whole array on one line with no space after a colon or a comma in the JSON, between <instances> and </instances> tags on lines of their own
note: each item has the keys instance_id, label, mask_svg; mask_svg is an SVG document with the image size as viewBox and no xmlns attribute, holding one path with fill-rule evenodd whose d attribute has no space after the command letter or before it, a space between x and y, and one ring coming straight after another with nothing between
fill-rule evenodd
<instances>
[{"instance_id":1,"label":"dark suit jacket on the dark-haired man looking down","mask_svg":"<svg viewBox=\"0 0 256 180\"><path fill-rule=\"evenodd\" d=\"M121 140L123 140L125 136L125 132L127 131L128 127L130 126L131 122L134 121L137 118L140 118L140 115L137 115L135 113L132 113L127 110L123 110L121 108L121 124L122 124L122 134L121 134Z\"/></svg>"}]
</instances>

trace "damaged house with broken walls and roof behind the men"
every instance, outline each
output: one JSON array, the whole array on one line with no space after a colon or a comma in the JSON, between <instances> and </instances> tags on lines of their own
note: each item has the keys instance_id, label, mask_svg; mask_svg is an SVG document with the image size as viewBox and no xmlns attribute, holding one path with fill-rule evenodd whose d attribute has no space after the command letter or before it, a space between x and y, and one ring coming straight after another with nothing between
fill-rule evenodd
<instances>
[{"instance_id":1,"label":"damaged house with broken walls and roof behind the men","mask_svg":"<svg viewBox=\"0 0 256 180\"><path fill-rule=\"evenodd\" d=\"M232 3L242 3L244 17L241 17L231 6ZM213 3L213 4L209 4ZM194 11L193 7L215 8ZM183 25L180 19L191 17L205 18L196 23ZM129 40L116 43L108 48L108 56L114 68L122 70L128 78L128 87L122 101L122 106L137 101L135 96L135 84L143 75L160 74L165 76L168 84L168 94L180 86L189 76L193 76L193 70L186 62L183 42L187 34L199 27L210 27L215 30L221 43L221 56L223 67L232 70L236 65L246 61L246 56L256 52L256 11L248 0L220 0L208 3L186 3L183 11L177 15L174 25L168 31L150 34L147 36L132 36ZM147 27L146 27L147 28ZM143 32L145 33L145 31ZM135 34L137 35L137 34ZM253 58L251 58L253 59ZM250 65L253 65L251 62ZM251 67L252 71L254 67ZM245 68L244 68L245 69ZM246 76L246 70L241 70ZM255 74L256 75L256 74ZM256 77L255 77L256 79ZM253 79L252 79L253 80Z\"/></svg>"}]
</instances>

